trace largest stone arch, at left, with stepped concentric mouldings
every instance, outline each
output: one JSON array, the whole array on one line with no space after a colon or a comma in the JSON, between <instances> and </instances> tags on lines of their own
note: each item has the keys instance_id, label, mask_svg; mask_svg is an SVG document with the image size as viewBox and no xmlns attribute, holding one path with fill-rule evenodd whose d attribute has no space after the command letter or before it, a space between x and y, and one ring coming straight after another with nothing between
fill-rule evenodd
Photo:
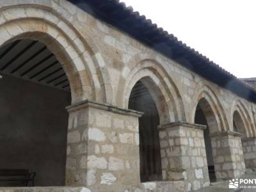
<instances>
[{"instance_id":1,"label":"largest stone arch, at left, with stepped concentric mouldings","mask_svg":"<svg viewBox=\"0 0 256 192\"><path fill-rule=\"evenodd\" d=\"M0 13L4 15L0 20L0 45L21 38L47 45L67 74L73 104L84 99L111 101L112 90L106 80L108 73L106 70L102 73L104 61L60 14L49 7L33 4L26 4L26 8L19 4L2 7Z\"/></svg>"}]
</instances>

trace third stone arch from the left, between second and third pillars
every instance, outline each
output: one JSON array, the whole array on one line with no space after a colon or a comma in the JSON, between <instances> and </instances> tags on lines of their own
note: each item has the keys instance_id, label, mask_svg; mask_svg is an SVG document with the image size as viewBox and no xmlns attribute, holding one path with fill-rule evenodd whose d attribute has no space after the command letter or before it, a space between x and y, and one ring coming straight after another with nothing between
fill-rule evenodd
<instances>
[{"instance_id":1,"label":"third stone arch from the left, between second and third pillars","mask_svg":"<svg viewBox=\"0 0 256 192\"><path fill-rule=\"evenodd\" d=\"M205 104L205 109L207 109L207 111L205 110L205 113L211 112L214 118L216 119L215 131L228 130L228 122L223 107L218 98L216 97L216 94L212 91L212 89L209 86L199 83L195 89L193 98L195 98L195 102L193 103L192 106L193 111L191 113L191 122L195 121L196 107L198 106L200 101L204 100L203 103ZM205 117L207 118L207 115L205 115Z\"/></svg>"}]
</instances>

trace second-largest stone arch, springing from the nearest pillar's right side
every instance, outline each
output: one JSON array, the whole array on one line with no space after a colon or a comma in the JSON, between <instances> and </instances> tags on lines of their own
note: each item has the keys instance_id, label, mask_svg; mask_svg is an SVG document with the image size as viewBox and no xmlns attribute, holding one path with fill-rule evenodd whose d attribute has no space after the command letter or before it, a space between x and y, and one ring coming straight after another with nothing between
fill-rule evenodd
<instances>
[{"instance_id":1,"label":"second-largest stone arch, springing from the nearest pillar's right side","mask_svg":"<svg viewBox=\"0 0 256 192\"><path fill-rule=\"evenodd\" d=\"M160 116L161 124L170 121L186 120L184 105L177 87L172 82L168 74L161 69L160 63L152 60L140 61L136 67L124 77L124 86L119 83L118 90L123 93L120 95L118 104L123 108L127 108L129 104L129 96L133 86L138 81L143 81L147 86L154 102L156 102L157 111Z\"/></svg>"}]
</instances>

